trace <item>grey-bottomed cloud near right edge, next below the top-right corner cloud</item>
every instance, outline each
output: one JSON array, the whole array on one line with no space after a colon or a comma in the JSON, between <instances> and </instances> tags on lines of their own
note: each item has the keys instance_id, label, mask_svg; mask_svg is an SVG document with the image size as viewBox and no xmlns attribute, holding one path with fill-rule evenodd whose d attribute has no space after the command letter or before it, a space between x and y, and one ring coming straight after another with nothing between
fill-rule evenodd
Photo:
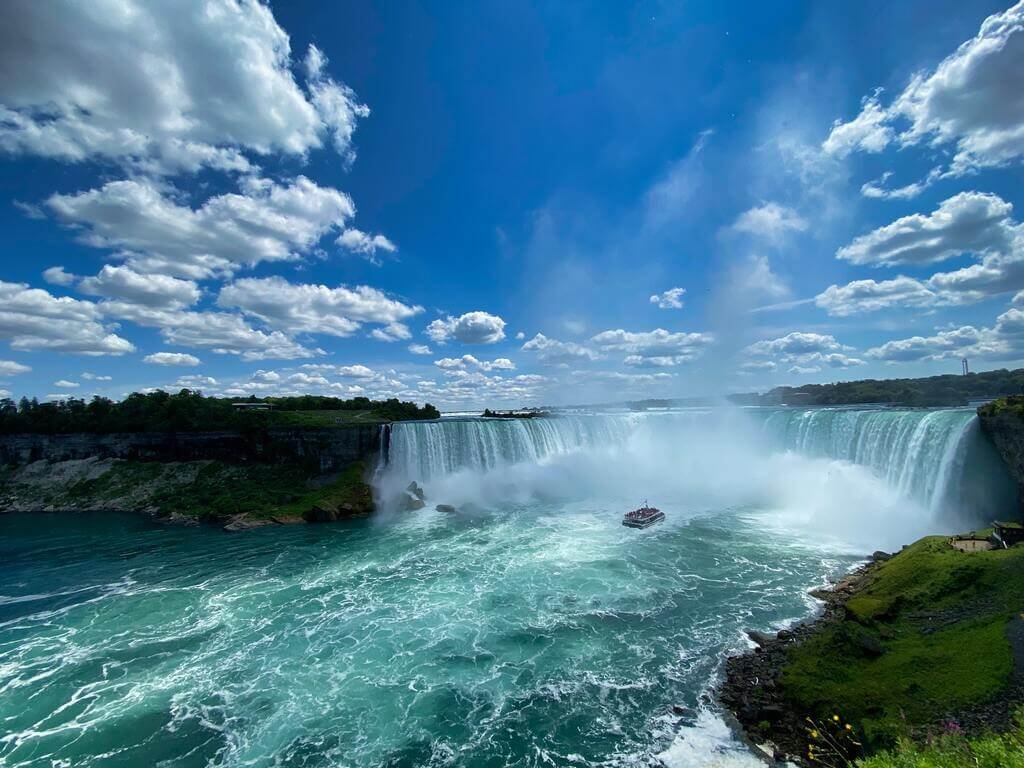
<instances>
[{"instance_id":1,"label":"grey-bottomed cloud near right edge, next below the top-right corner cloud","mask_svg":"<svg viewBox=\"0 0 1024 768\"><path fill-rule=\"evenodd\" d=\"M1013 206L995 195L961 193L930 215L912 214L836 252L854 264L933 264L965 253L1005 254L1017 234Z\"/></svg>"}]
</instances>

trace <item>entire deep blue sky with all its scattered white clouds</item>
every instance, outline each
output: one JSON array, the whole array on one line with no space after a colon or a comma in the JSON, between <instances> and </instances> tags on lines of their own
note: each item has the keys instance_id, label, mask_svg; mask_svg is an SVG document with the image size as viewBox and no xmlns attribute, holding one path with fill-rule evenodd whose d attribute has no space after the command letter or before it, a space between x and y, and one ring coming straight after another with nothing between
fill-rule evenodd
<instances>
[{"instance_id":1,"label":"entire deep blue sky with all its scattered white clouds","mask_svg":"<svg viewBox=\"0 0 1024 768\"><path fill-rule=\"evenodd\" d=\"M1024 5L16 0L0 390L442 408L1024 358Z\"/></svg>"}]
</instances>

